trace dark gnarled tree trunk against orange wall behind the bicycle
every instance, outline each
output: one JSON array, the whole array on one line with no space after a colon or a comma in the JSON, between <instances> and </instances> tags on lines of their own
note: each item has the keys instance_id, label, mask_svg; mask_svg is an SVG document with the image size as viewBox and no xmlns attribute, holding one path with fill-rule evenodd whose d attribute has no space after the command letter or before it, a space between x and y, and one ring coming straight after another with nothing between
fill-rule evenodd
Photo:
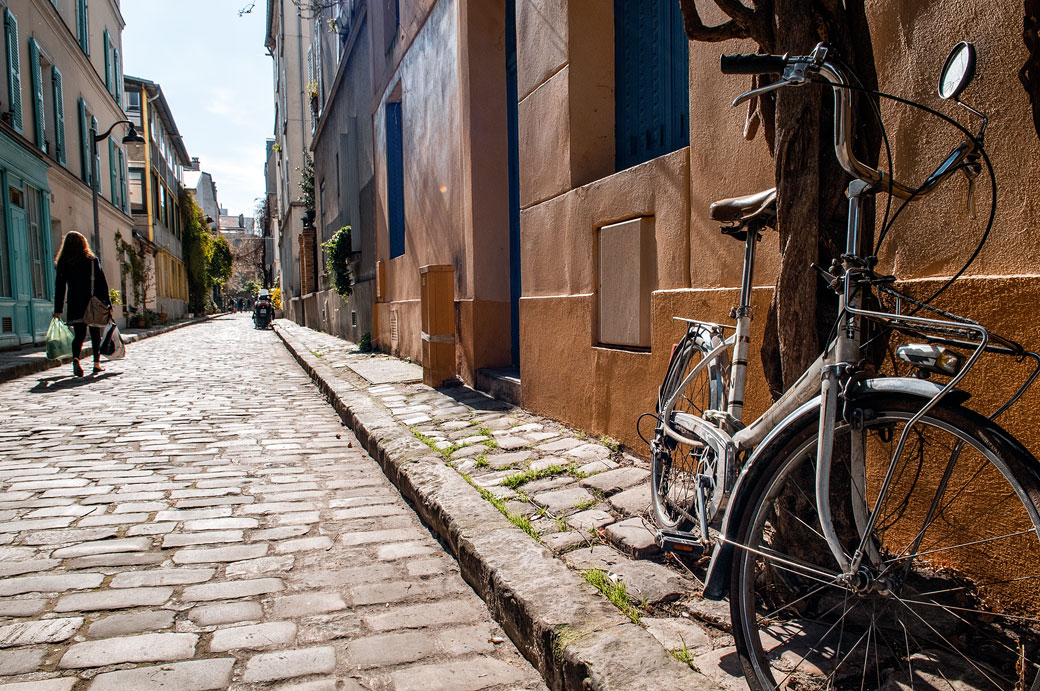
<instances>
[{"instance_id":1,"label":"dark gnarled tree trunk against orange wall behind the bicycle","mask_svg":"<svg viewBox=\"0 0 1040 691\"><path fill-rule=\"evenodd\" d=\"M777 53L805 55L820 42L852 63L868 88L877 85L874 51L860 0L775 0ZM877 162L880 130L869 102L856 99L857 155ZM834 155L830 89L784 88L776 98L776 185L780 265L762 343L762 366L774 399L812 364L837 317L837 296L809 267L825 267L844 251L849 176ZM874 237L873 204L864 209L863 250Z\"/></svg>"}]
</instances>

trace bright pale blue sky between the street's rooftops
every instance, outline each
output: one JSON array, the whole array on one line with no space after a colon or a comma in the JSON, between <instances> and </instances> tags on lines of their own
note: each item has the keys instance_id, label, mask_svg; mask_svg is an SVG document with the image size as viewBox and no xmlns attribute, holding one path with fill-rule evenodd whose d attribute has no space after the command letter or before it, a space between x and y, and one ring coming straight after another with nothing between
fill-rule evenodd
<instances>
[{"instance_id":1,"label":"bright pale blue sky between the street's rooftops","mask_svg":"<svg viewBox=\"0 0 1040 691\"><path fill-rule=\"evenodd\" d=\"M123 72L162 86L188 156L213 176L220 206L253 215L275 127L266 2L122 0ZM254 5L239 17L238 10Z\"/></svg>"}]
</instances>

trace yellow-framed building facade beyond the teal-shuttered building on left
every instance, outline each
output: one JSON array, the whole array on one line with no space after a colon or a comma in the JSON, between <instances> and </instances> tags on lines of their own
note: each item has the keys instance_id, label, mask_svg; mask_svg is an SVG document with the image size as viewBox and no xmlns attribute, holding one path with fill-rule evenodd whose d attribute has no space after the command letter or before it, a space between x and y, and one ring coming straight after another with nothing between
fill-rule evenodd
<instances>
[{"instance_id":1,"label":"yellow-framed building facade beyond the teal-shuttered building on left","mask_svg":"<svg viewBox=\"0 0 1040 691\"><path fill-rule=\"evenodd\" d=\"M133 244L138 254L149 258L152 279L142 304L135 307L177 318L187 311L180 195L184 169L192 160L162 87L130 76L125 83L127 117L146 137L146 144L128 148Z\"/></svg>"}]
</instances>

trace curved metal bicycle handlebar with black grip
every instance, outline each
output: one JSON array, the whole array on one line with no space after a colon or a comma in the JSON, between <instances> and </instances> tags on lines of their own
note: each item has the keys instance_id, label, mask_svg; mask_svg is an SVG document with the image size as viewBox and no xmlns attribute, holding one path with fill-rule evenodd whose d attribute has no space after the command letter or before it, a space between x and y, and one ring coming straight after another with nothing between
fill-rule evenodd
<instances>
[{"instance_id":1,"label":"curved metal bicycle handlebar with black grip","mask_svg":"<svg viewBox=\"0 0 1040 691\"><path fill-rule=\"evenodd\" d=\"M834 153L844 171L873 187L880 187L900 199L925 197L940 182L960 169L961 163L976 153L972 142L962 142L946 156L919 186L906 185L895 180L889 173L878 170L856 158L853 152L852 134L852 89L844 72L837 65L826 59L817 59L821 44L811 55L788 57L786 55L723 55L720 69L723 74L780 74L781 82L804 84L805 74L814 72L823 77L834 92ZM826 52L823 53L826 55Z\"/></svg>"}]
</instances>

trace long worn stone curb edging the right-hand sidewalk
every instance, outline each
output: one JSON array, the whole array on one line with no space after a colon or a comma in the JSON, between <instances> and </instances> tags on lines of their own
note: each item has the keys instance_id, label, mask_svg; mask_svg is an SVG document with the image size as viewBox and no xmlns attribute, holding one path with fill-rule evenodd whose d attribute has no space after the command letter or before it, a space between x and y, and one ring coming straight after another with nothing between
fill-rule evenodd
<instances>
[{"instance_id":1,"label":"long worn stone curb edging the right-hand sidewalk","mask_svg":"<svg viewBox=\"0 0 1040 691\"><path fill-rule=\"evenodd\" d=\"M365 391L340 379L277 323L275 332L387 478L451 551L463 578L549 688L720 688L675 660L579 574L510 523Z\"/></svg>"}]
</instances>

